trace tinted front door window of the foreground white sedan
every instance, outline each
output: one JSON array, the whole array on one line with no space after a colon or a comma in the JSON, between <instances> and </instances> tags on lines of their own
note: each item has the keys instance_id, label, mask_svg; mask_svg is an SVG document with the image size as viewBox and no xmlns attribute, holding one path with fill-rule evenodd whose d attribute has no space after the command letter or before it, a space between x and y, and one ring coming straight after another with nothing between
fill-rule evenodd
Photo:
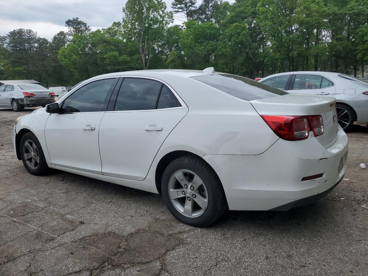
<instances>
[{"instance_id":1,"label":"tinted front door window of the foreground white sedan","mask_svg":"<svg viewBox=\"0 0 368 276\"><path fill-rule=\"evenodd\" d=\"M101 79L90 82L72 93L64 100L64 113L105 111L116 79Z\"/></svg>"}]
</instances>

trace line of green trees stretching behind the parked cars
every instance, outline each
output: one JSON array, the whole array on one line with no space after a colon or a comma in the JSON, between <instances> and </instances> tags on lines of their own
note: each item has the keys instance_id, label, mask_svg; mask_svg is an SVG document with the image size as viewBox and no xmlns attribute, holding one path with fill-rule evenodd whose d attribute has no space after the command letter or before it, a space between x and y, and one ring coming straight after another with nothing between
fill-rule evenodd
<instances>
[{"instance_id":1,"label":"line of green trees stretching behind the parked cars","mask_svg":"<svg viewBox=\"0 0 368 276\"><path fill-rule=\"evenodd\" d=\"M75 85L141 69L199 69L245 77L285 71L366 76L368 0L128 0L121 22L91 31L66 21L51 41L30 29L0 37L0 79ZM183 22L173 25L174 17Z\"/></svg>"}]
</instances>

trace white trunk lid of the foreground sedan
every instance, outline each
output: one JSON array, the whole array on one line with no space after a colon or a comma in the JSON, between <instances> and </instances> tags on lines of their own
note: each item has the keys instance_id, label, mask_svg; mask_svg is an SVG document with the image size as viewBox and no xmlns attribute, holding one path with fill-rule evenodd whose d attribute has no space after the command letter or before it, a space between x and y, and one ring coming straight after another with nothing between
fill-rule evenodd
<instances>
[{"instance_id":1,"label":"white trunk lid of the foreground sedan","mask_svg":"<svg viewBox=\"0 0 368 276\"><path fill-rule=\"evenodd\" d=\"M323 134L317 136L316 139L324 148L328 148L336 142L338 123L335 111L335 98L287 94L273 98L252 100L250 103L260 115L321 115L323 118ZM314 134L311 131L309 135L313 137Z\"/></svg>"}]
</instances>

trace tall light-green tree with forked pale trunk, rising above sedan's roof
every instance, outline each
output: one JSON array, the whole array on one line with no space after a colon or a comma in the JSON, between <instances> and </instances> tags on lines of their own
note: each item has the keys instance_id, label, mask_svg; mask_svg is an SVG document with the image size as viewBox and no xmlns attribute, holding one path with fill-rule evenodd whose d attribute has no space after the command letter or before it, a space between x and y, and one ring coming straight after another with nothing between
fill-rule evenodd
<instances>
[{"instance_id":1,"label":"tall light-green tree with forked pale trunk, rising above sedan's roof","mask_svg":"<svg viewBox=\"0 0 368 276\"><path fill-rule=\"evenodd\" d=\"M123 8L123 29L137 44L142 69L148 69L155 46L162 40L164 29L173 22L173 13L166 11L162 0L128 0Z\"/></svg>"}]
</instances>

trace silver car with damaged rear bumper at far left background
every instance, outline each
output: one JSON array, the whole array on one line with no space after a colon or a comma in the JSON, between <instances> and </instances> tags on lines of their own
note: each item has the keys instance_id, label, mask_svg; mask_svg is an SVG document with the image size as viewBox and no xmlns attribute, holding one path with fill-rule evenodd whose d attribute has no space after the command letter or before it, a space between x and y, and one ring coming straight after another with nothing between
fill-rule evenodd
<instances>
[{"instance_id":1,"label":"silver car with damaged rear bumper at far left background","mask_svg":"<svg viewBox=\"0 0 368 276\"><path fill-rule=\"evenodd\" d=\"M54 92L39 84L5 84L0 86L0 107L11 107L14 111L20 111L24 107L45 107L54 102Z\"/></svg>"}]
</instances>

